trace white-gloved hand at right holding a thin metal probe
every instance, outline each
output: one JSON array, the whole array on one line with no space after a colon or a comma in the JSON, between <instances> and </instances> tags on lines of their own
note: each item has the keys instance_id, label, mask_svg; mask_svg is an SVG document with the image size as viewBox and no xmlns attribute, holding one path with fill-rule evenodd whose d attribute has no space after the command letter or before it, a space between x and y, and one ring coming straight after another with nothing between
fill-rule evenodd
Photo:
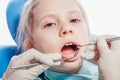
<instances>
[{"instance_id":1,"label":"white-gloved hand at right holding a thin metal probe","mask_svg":"<svg viewBox=\"0 0 120 80\"><path fill-rule=\"evenodd\" d=\"M106 42L106 39L114 37L101 36L96 39L96 46L87 46L91 50L88 59L98 64L99 80L120 80L120 40Z\"/></svg>"}]
</instances>

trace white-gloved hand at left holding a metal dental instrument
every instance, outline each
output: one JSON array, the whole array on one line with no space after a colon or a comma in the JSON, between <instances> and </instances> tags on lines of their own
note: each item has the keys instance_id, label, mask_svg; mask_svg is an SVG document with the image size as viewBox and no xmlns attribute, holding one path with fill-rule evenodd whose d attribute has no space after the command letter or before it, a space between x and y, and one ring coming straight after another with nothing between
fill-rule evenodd
<instances>
[{"instance_id":1,"label":"white-gloved hand at left holding a metal dental instrument","mask_svg":"<svg viewBox=\"0 0 120 80\"><path fill-rule=\"evenodd\" d=\"M42 54L35 49L30 49L19 56L12 58L2 80L33 80L50 66L60 65L61 62L53 60L60 59L60 54ZM32 68L12 69L12 67L41 62L43 64Z\"/></svg>"}]
</instances>

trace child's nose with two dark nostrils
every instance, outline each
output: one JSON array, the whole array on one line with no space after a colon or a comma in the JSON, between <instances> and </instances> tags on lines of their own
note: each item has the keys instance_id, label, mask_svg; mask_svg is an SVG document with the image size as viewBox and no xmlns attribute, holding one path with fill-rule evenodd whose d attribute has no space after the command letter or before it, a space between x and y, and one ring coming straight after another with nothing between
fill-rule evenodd
<instances>
[{"instance_id":1,"label":"child's nose with two dark nostrils","mask_svg":"<svg viewBox=\"0 0 120 80\"><path fill-rule=\"evenodd\" d=\"M67 35L72 35L74 33L73 29L70 26L63 26L60 29L60 36L64 37Z\"/></svg>"}]
</instances>

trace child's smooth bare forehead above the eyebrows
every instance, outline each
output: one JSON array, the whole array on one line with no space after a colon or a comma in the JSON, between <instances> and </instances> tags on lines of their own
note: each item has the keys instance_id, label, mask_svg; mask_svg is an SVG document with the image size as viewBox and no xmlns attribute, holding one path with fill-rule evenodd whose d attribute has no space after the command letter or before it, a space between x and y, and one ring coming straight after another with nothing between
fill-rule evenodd
<instances>
[{"instance_id":1,"label":"child's smooth bare forehead above the eyebrows","mask_svg":"<svg viewBox=\"0 0 120 80\"><path fill-rule=\"evenodd\" d=\"M49 13L63 13L69 11L80 11L76 0L40 0L39 4L33 9L35 15L45 15Z\"/></svg>"}]
</instances>

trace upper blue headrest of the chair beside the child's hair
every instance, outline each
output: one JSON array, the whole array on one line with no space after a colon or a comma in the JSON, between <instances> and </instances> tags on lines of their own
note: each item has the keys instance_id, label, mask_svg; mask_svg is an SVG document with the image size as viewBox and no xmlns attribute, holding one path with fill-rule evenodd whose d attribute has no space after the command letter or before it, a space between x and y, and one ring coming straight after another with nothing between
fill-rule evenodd
<instances>
[{"instance_id":1,"label":"upper blue headrest of the chair beside the child's hair","mask_svg":"<svg viewBox=\"0 0 120 80\"><path fill-rule=\"evenodd\" d=\"M27 0L10 0L7 6L7 11L6 11L7 24L11 36L14 40L16 37L16 32L17 32L22 8L26 1Z\"/></svg>"}]
</instances>

